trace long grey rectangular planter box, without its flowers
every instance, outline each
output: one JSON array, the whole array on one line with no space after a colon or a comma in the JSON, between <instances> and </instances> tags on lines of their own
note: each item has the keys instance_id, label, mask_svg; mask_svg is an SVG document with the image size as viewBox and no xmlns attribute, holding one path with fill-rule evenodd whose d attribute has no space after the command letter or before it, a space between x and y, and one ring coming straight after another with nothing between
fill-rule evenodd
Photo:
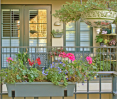
<instances>
[{"instance_id":1,"label":"long grey rectangular planter box, without its flowers","mask_svg":"<svg viewBox=\"0 0 117 99\"><path fill-rule=\"evenodd\" d=\"M51 82L22 82L6 86L9 97L12 97L12 91L15 91L15 97L64 96L64 90L67 90L67 96L73 96L75 83L68 82L67 87L54 85Z\"/></svg>"}]
</instances>

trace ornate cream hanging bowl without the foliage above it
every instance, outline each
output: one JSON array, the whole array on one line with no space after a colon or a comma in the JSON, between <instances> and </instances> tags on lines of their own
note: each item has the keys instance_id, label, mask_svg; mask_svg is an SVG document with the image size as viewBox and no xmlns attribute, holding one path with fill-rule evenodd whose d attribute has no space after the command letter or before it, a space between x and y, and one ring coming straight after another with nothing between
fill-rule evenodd
<instances>
[{"instance_id":1,"label":"ornate cream hanging bowl without the foliage above it","mask_svg":"<svg viewBox=\"0 0 117 99\"><path fill-rule=\"evenodd\" d=\"M82 20L89 26L95 28L107 27L115 20L117 12L108 10L90 10L82 14Z\"/></svg>"}]
</instances>

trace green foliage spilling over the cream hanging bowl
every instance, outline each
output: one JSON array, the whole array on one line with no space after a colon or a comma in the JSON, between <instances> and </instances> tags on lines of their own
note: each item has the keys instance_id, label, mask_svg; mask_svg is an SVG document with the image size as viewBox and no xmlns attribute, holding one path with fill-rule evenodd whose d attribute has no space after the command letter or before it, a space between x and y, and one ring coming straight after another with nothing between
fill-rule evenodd
<instances>
[{"instance_id":1,"label":"green foliage spilling over the cream hanging bowl","mask_svg":"<svg viewBox=\"0 0 117 99\"><path fill-rule=\"evenodd\" d=\"M92 9L117 11L117 1L110 0L88 0L87 2L73 1L72 3L66 2L61 9L55 10L54 17L59 18L62 22L77 21L81 18L81 14L86 13Z\"/></svg>"}]
</instances>

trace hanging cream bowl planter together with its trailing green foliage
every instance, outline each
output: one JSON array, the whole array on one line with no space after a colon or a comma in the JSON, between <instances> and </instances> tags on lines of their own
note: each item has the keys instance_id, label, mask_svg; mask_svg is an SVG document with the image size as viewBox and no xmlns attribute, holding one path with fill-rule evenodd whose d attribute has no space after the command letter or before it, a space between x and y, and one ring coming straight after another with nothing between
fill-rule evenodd
<instances>
[{"instance_id":1,"label":"hanging cream bowl planter together with its trailing green foliage","mask_svg":"<svg viewBox=\"0 0 117 99\"><path fill-rule=\"evenodd\" d=\"M91 27L101 27L111 24L117 11L117 1L87 0L87 2L66 2L60 10L56 10L54 17L60 21L77 21L80 18Z\"/></svg>"}]
</instances>

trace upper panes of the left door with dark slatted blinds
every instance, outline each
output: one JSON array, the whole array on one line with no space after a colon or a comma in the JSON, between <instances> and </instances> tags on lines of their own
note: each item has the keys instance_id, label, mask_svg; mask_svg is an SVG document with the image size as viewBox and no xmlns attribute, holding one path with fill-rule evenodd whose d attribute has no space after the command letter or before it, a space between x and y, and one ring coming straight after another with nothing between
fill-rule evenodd
<instances>
[{"instance_id":1,"label":"upper panes of the left door with dark slatted blinds","mask_svg":"<svg viewBox=\"0 0 117 99\"><path fill-rule=\"evenodd\" d=\"M20 37L19 9L2 9L2 36Z\"/></svg>"}]
</instances>

